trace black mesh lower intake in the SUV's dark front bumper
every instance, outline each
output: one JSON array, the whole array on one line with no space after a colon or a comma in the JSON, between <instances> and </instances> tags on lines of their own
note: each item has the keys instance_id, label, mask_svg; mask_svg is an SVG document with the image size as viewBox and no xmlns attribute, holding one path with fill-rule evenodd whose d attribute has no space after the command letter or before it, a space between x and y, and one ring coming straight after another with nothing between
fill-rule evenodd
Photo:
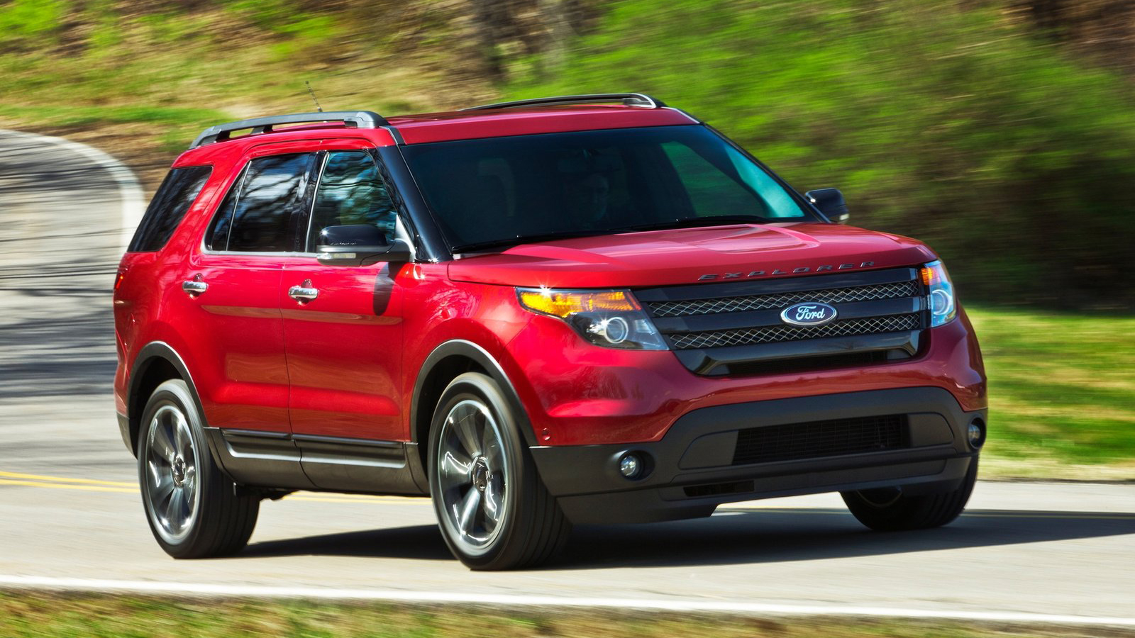
<instances>
[{"instance_id":1,"label":"black mesh lower intake in the SUV's dark front bumper","mask_svg":"<svg viewBox=\"0 0 1135 638\"><path fill-rule=\"evenodd\" d=\"M906 414L764 426L738 431L734 465L910 447Z\"/></svg>"}]
</instances>

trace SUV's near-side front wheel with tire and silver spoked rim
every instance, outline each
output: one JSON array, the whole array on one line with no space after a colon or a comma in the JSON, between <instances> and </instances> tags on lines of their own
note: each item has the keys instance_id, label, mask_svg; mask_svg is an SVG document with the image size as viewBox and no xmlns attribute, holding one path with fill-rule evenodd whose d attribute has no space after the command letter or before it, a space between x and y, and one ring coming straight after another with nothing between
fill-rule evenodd
<instances>
[{"instance_id":1,"label":"SUV's near-side front wheel with tire and silver spoked rim","mask_svg":"<svg viewBox=\"0 0 1135 638\"><path fill-rule=\"evenodd\" d=\"M429 437L429 485L449 551L473 570L533 566L571 526L536 471L501 387L466 372L442 393Z\"/></svg>"}]
</instances>

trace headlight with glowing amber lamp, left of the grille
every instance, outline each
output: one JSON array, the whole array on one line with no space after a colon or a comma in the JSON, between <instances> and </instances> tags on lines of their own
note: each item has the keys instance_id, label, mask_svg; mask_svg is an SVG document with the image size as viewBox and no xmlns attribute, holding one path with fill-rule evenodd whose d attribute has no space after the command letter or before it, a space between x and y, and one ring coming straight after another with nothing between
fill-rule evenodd
<instances>
[{"instance_id":1,"label":"headlight with glowing amber lamp, left of the grille","mask_svg":"<svg viewBox=\"0 0 1135 638\"><path fill-rule=\"evenodd\" d=\"M524 308L558 317L579 336L604 347L666 350L666 342L625 291L572 292L516 288Z\"/></svg>"}]
</instances>

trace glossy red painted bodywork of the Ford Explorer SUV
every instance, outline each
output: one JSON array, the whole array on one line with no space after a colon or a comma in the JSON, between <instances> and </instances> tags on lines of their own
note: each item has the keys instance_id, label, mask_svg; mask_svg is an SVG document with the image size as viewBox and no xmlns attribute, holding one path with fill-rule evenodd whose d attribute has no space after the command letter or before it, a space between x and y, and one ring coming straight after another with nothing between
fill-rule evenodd
<instances>
[{"instance_id":1,"label":"glossy red painted bodywork of the Ford Explorer SUV","mask_svg":"<svg viewBox=\"0 0 1135 638\"><path fill-rule=\"evenodd\" d=\"M688 124L680 111L582 107L392 118L409 143L621 126ZM393 144L384 129L296 127L271 144L251 135L184 153L175 166L211 163L213 176L158 253L123 258L115 292L125 394L138 350L160 341L191 371L211 426L411 438L410 397L439 344L465 339L496 359L543 444L645 442L682 414L711 405L854 391L932 386L965 410L985 406L981 353L964 312L927 330L916 359L863 369L707 378L671 352L588 344L564 322L520 308L515 286L637 287L742 278L815 276L821 267L917 266L935 259L919 242L824 224L729 226L628 233L516 246L389 274L389 299L373 303L384 265L326 267L310 255L218 255L201 249L211 212L251 157ZM753 275L764 271L760 275ZM200 275L209 289L180 284ZM753 275L753 277L749 277ZM297 304L287 288L311 279L320 296ZM250 292L251 291L251 292ZM427 408L428 409L428 408Z\"/></svg>"}]
</instances>

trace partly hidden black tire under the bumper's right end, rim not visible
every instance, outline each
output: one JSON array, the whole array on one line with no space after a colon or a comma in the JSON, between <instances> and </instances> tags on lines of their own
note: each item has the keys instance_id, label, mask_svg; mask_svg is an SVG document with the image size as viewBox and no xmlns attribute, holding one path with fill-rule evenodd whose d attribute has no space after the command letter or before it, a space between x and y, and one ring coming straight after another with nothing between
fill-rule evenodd
<instances>
[{"instance_id":1,"label":"partly hidden black tire under the bumper's right end, rim not visible","mask_svg":"<svg viewBox=\"0 0 1135 638\"><path fill-rule=\"evenodd\" d=\"M950 492L907 495L901 487L841 492L843 502L859 522L877 531L902 531L941 527L966 509L977 481L977 457L961 485Z\"/></svg>"}]
</instances>

